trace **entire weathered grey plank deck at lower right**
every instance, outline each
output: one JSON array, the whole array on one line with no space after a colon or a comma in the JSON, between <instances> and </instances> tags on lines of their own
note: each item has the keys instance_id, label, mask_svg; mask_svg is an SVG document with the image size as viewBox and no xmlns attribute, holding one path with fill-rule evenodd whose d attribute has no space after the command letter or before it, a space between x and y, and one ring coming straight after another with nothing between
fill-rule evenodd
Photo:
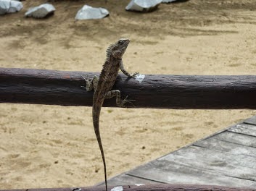
<instances>
[{"instance_id":1,"label":"entire weathered grey plank deck at lower right","mask_svg":"<svg viewBox=\"0 0 256 191\"><path fill-rule=\"evenodd\" d=\"M108 180L256 187L256 116ZM104 184L104 183L101 183Z\"/></svg>"}]
</instances>

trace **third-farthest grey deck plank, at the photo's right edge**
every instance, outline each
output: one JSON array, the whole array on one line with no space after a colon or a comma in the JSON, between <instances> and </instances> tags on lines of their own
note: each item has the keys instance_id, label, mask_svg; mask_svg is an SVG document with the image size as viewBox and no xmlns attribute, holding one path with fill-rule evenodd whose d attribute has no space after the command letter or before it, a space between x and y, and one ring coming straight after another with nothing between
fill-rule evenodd
<instances>
[{"instance_id":1,"label":"third-farthest grey deck plank, at the photo's right edge","mask_svg":"<svg viewBox=\"0 0 256 191\"><path fill-rule=\"evenodd\" d=\"M226 132L222 132L218 135L215 135L214 138L218 139L218 140L228 141L230 143L236 143L236 144L246 145L249 147L256 148L255 137L252 137L249 135L226 131Z\"/></svg>"}]
</instances>

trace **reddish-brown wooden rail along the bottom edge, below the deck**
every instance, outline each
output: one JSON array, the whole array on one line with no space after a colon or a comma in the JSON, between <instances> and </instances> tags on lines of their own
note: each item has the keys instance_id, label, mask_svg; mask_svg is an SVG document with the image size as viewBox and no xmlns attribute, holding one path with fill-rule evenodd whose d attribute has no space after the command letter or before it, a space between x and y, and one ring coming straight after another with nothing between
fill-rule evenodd
<instances>
[{"instance_id":1,"label":"reddish-brown wooden rail along the bottom edge, below the deck","mask_svg":"<svg viewBox=\"0 0 256 191\"><path fill-rule=\"evenodd\" d=\"M114 189L115 188L115 189ZM63 188L37 188L1 191L104 191L105 187L63 187ZM256 191L252 188L224 187L200 184L144 184L109 187L115 191Z\"/></svg>"}]
</instances>

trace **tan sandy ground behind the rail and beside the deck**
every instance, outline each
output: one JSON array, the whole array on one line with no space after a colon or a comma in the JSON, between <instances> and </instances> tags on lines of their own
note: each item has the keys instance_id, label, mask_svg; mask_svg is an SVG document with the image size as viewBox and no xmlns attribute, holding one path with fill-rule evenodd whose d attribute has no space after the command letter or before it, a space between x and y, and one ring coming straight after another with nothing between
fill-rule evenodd
<instances>
[{"instance_id":1,"label":"tan sandy ground behind the rail and beside the deck","mask_svg":"<svg viewBox=\"0 0 256 191\"><path fill-rule=\"evenodd\" d=\"M0 66L99 72L105 49L131 39L125 68L143 74L255 75L256 4L191 0L155 12L128 1L51 1L46 20L0 17ZM89 4L110 17L75 22ZM249 110L102 109L107 174L113 177L256 114ZM104 180L90 107L0 104L0 188L89 186Z\"/></svg>"}]
</instances>

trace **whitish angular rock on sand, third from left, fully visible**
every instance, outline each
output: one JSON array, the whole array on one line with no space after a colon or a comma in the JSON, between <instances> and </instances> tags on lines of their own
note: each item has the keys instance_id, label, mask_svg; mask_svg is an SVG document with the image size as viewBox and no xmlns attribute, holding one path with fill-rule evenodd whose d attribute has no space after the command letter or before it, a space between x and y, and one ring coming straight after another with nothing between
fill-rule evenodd
<instances>
[{"instance_id":1,"label":"whitish angular rock on sand, third from left, fully visible","mask_svg":"<svg viewBox=\"0 0 256 191\"><path fill-rule=\"evenodd\" d=\"M86 4L75 15L75 20L102 19L104 17L107 17L109 14L110 14L110 12L108 12L107 9L104 9L102 7L95 8L95 7L88 6Z\"/></svg>"}]
</instances>

